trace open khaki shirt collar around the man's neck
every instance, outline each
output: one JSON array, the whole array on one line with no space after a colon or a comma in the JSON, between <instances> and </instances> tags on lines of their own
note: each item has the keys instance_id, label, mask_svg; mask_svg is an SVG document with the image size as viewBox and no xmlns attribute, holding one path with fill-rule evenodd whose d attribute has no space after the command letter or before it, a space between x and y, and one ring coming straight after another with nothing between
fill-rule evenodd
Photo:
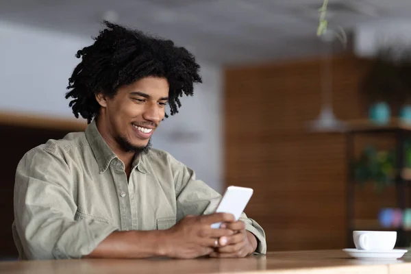
<instances>
[{"instance_id":1,"label":"open khaki shirt collar around the man's neck","mask_svg":"<svg viewBox=\"0 0 411 274\"><path fill-rule=\"evenodd\" d=\"M93 120L86 128L86 138L90 144L92 153L95 155L97 164L99 165L99 172L103 173L108 169L108 166L113 159L121 160L117 157L116 153L108 146L103 136L101 136L97 124ZM145 169L144 158L142 155L138 155L133 160L132 169L138 169L141 173L147 173ZM124 165L123 165L124 166Z\"/></svg>"}]
</instances>

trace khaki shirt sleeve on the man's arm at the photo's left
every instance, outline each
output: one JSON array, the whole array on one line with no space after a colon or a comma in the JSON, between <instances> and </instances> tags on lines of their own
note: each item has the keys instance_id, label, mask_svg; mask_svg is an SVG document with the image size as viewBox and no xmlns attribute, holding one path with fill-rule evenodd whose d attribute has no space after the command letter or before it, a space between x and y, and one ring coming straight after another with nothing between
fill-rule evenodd
<instances>
[{"instance_id":1,"label":"khaki shirt sleeve on the man's arm at the photo's left","mask_svg":"<svg viewBox=\"0 0 411 274\"><path fill-rule=\"evenodd\" d=\"M18 163L14 225L29 260L82 258L117 228L101 221L75 221L75 177L62 155L38 147Z\"/></svg>"}]
</instances>

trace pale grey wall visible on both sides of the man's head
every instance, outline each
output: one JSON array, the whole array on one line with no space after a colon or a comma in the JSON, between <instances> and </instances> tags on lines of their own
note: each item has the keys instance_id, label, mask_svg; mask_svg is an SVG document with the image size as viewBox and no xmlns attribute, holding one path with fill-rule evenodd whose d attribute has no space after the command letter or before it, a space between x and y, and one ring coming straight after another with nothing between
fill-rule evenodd
<instances>
[{"instance_id":1,"label":"pale grey wall visible on both sides of the man's head","mask_svg":"<svg viewBox=\"0 0 411 274\"><path fill-rule=\"evenodd\" d=\"M64 95L79 61L75 53L92 40L4 22L0 37L0 111L75 119ZM164 121L153 144L221 190L221 70L201 64L203 84L183 99L179 114ZM184 140L175 140L176 134Z\"/></svg>"}]
</instances>

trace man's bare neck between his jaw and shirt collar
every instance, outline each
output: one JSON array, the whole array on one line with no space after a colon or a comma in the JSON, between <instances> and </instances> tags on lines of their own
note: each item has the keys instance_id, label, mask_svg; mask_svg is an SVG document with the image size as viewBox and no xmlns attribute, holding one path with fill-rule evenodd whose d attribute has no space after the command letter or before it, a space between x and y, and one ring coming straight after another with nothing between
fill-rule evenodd
<instances>
[{"instance_id":1,"label":"man's bare neck between his jaw and shirt collar","mask_svg":"<svg viewBox=\"0 0 411 274\"><path fill-rule=\"evenodd\" d=\"M115 140L113 136L114 134L111 134L110 131L108 130L108 127L106 126L107 123L105 123L105 119L103 118L103 116L100 116L99 119L97 119L96 125L97 125L97 129L99 130L101 137L103 137L107 145L117 155L117 157L121 160L121 162L124 163L125 170L129 169L129 167L132 165L132 162L134 160L135 153L126 152L121 148L119 143Z\"/></svg>"}]
</instances>

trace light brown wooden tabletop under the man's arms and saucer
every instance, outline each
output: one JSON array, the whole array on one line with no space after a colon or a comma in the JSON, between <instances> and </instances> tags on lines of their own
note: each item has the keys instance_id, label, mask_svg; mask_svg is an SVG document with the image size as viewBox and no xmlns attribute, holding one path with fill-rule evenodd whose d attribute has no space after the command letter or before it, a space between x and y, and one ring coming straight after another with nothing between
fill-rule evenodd
<instances>
[{"instance_id":1,"label":"light brown wooden tabletop under the man's arms and saucer","mask_svg":"<svg viewBox=\"0 0 411 274\"><path fill-rule=\"evenodd\" d=\"M407 254L407 253L406 253ZM411 273L410 254L386 262L348 258L340 250L271 252L242 259L55 260L1 262L0 273Z\"/></svg>"}]
</instances>

